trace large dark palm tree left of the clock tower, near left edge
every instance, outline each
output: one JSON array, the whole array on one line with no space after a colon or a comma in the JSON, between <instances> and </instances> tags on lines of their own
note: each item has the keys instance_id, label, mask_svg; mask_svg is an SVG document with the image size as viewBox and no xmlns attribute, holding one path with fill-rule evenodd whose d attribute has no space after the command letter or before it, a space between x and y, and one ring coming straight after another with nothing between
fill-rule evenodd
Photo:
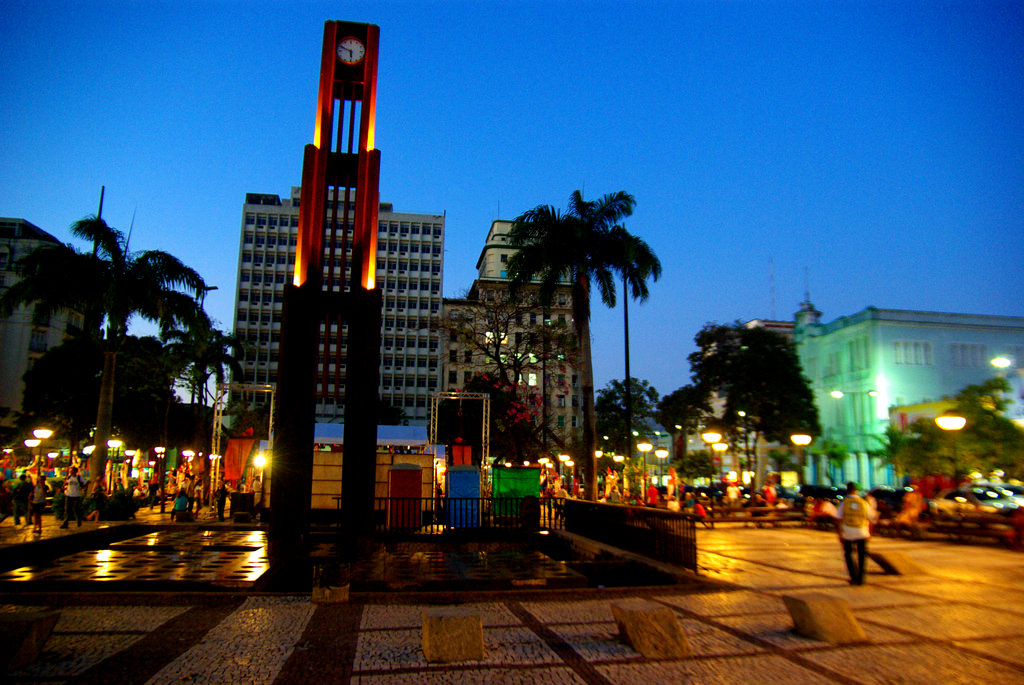
<instances>
[{"instance_id":1,"label":"large dark palm tree left of the clock tower, near left edge","mask_svg":"<svg viewBox=\"0 0 1024 685\"><path fill-rule=\"evenodd\" d=\"M77 311L85 316L86 333L95 335L103 350L99 400L96 406L95 449L89 457L90 489L102 482L106 440L111 435L114 378L118 350L133 316L158 323L164 330L195 320L195 294L205 288L197 271L160 251L128 251L128 240L98 216L75 222L71 232L92 244L92 252L63 245L45 245L19 261L22 280L0 297L0 312L35 303L39 316ZM182 292L184 291L184 292Z\"/></svg>"}]
</instances>

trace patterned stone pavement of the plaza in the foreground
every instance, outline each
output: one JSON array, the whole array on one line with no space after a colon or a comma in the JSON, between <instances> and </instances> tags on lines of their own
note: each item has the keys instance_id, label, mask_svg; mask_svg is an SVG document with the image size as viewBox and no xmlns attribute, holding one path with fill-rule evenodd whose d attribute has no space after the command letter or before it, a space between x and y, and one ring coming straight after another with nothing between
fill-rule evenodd
<instances>
[{"instance_id":1,"label":"patterned stone pavement of the plaza in the foreground","mask_svg":"<svg viewBox=\"0 0 1024 685\"><path fill-rule=\"evenodd\" d=\"M84 526L83 526L84 527ZM986 545L873 539L926 575L847 584L834 533L719 526L698 533L707 592L671 587L487 594L5 597L61 608L44 657L10 682L128 683L1024 683L1024 555ZM783 594L846 599L868 641L792 632ZM675 611L693 655L648 659L616 636L623 597ZM479 612L486 656L427 663L422 611ZM19 606L18 606L19 605Z\"/></svg>"}]
</instances>

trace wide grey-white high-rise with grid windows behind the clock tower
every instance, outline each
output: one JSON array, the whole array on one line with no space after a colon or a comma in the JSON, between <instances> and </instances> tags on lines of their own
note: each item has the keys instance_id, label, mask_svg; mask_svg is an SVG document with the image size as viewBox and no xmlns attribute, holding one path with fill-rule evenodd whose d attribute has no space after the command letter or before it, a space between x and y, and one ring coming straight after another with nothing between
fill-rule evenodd
<instances>
[{"instance_id":1,"label":"wide grey-white high-rise with grid windows behind the clock tower","mask_svg":"<svg viewBox=\"0 0 1024 685\"><path fill-rule=\"evenodd\" d=\"M239 244L234 334L247 345L243 378L237 382L274 384L285 284L295 269L299 230L299 192L291 197L247 194ZM346 262L351 256L351 241ZM381 203L378 212L377 285L382 292L381 399L401 409L412 425L427 422L429 394L439 387L444 259L444 215L395 212ZM330 255L325 254L325 274ZM340 263L340 256L335 259ZM348 273L346 270L345 277ZM336 334L335 334L336 335ZM344 335L344 332L343 332ZM323 347L321 347L323 349ZM324 363L328 369L324 369ZM321 359L318 373L344 383L347 359ZM317 395L316 421L340 423L343 401Z\"/></svg>"}]
</instances>

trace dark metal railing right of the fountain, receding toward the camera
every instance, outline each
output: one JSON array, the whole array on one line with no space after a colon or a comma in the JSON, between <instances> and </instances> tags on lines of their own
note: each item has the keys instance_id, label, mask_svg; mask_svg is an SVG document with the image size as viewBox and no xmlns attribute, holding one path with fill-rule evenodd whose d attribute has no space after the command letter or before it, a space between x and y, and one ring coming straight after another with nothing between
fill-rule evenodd
<instances>
[{"instance_id":1,"label":"dark metal railing right of the fountain, receding toward the camera","mask_svg":"<svg viewBox=\"0 0 1024 685\"><path fill-rule=\"evenodd\" d=\"M566 500L564 527L651 559L697 569L696 521L689 514Z\"/></svg>"}]
</instances>

